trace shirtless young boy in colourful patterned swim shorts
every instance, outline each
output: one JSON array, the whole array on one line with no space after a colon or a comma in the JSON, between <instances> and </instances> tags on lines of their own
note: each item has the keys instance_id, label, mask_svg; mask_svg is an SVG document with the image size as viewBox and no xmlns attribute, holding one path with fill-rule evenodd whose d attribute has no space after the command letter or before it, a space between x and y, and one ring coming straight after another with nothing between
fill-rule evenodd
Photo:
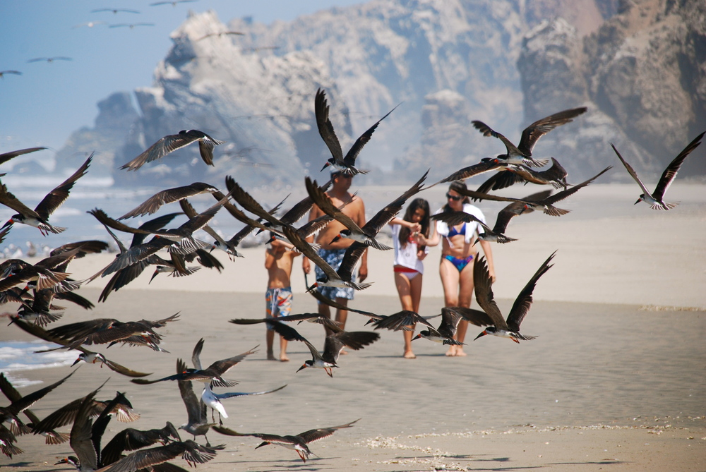
<instances>
[{"instance_id":1,"label":"shirtless young boy in colourful patterned swim shorts","mask_svg":"<svg viewBox=\"0 0 706 472\"><path fill-rule=\"evenodd\" d=\"M271 234L272 235L272 234ZM289 315L292 309L292 286L289 277L292 274L292 262L301 253L292 244L280 239L270 243L265 250L265 269L268 271L268 289L265 294L265 317L280 317ZM267 329L267 358L276 361L273 353L275 332ZM280 336L280 361L287 362L287 339Z\"/></svg>"}]
</instances>

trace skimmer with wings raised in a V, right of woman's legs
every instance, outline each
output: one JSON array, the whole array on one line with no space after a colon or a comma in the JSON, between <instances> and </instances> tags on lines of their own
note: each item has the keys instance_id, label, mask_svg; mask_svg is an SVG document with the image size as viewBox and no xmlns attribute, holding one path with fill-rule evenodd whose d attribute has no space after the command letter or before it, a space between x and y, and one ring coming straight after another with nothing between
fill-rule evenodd
<instances>
[{"instance_id":1,"label":"skimmer with wings raised in a V, right of woman's legs","mask_svg":"<svg viewBox=\"0 0 706 472\"><path fill-rule=\"evenodd\" d=\"M484 311L466 317L466 319L474 325L487 326L486 329L484 329L484 331L476 337L476 339L485 336L486 334L492 334L493 336L511 339L517 344L520 344L520 340L530 341L536 338L536 336L520 334L520 324L522 323L522 320L525 319L525 316L527 316L527 313L530 313L534 286L537 285L537 280L539 280L539 277L542 277L544 272L552 267L549 262L551 262L555 254L556 251L551 253L549 258L547 258L542 263L542 266L539 267L539 270L534 272L530 282L527 282L525 288L520 291L519 295L517 295L517 298L515 298L515 303L513 303L513 308L510 308L510 314L508 315L507 320L503 318L503 314L493 298L493 281L488 272L485 258L481 256L476 261L473 266L473 280L475 282L476 300Z\"/></svg>"}]
</instances>

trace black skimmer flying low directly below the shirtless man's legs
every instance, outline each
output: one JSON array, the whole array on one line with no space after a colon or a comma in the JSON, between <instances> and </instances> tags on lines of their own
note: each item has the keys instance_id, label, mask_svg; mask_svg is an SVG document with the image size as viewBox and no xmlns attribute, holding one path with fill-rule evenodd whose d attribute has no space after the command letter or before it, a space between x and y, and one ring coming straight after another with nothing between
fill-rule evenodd
<instances>
[{"instance_id":1,"label":"black skimmer flying low directly below the shirtless man's legs","mask_svg":"<svg viewBox=\"0 0 706 472\"><path fill-rule=\"evenodd\" d=\"M363 349L369 344L380 339L380 334L373 333L369 331L343 331L337 325L329 325L330 329L333 329L334 333L326 337L323 344L323 353L319 353L318 349L313 346L305 337L301 336L297 329L285 323L277 321L275 318L268 318L265 321L269 327L275 330L277 334L287 339L287 341L301 341L306 344L306 347L311 351L311 359L309 361L304 361L299 370L305 368L318 368L323 369L328 374L329 377L333 378L333 368L338 367L336 362L338 361L338 356L344 347L349 347L354 351ZM297 370L297 372L299 372Z\"/></svg>"}]
</instances>

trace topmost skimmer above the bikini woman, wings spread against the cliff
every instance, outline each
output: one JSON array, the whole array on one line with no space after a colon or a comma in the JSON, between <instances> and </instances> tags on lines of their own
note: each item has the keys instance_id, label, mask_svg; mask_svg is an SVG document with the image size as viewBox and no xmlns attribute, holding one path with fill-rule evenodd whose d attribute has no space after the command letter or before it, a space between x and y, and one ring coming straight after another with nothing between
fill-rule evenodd
<instances>
[{"instance_id":1,"label":"topmost skimmer above the bikini woman, wings spread against the cliff","mask_svg":"<svg viewBox=\"0 0 706 472\"><path fill-rule=\"evenodd\" d=\"M553 115L546 116L546 118L534 121L522 131L522 138L520 138L520 144L517 146L505 136L493 131L486 123L482 121L472 121L472 123L474 128L483 133L484 136L493 136L493 138L498 138L503 142L507 152L504 155L498 155L499 160L510 164L525 164L528 167L542 167L549 161L532 158L532 148L537 143L537 140L557 126L570 123L576 116L585 113L586 110L586 107L580 107L559 111Z\"/></svg>"}]
</instances>

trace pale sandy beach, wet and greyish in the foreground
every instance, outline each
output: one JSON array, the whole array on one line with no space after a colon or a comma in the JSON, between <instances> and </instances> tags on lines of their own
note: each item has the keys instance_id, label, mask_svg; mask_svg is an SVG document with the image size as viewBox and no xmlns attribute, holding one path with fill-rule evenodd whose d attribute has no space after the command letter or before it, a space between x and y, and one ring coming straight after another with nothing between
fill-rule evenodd
<instances>
[{"instance_id":1,"label":"pale sandy beach, wet and greyish in the foreground","mask_svg":"<svg viewBox=\"0 0 706 472\"><path fill-rule=\"evenodd\" d=\"M225 450L200 470L705 471L706 186L676 183L670 196L681 205L670 212L642 203L633 207L636 190L634 185L597 184L561 205L573 210L564 217L516 218L507 234L519 241L493 246L498 274L493 291L508 313L527 279L558 251L522 324L522 332L538 337L520 345L494 337L471 341L481 329L469 327L465 358L446 358L444 347L419 339L414 341L417 359L405 360L402 334L385 331L375 344L341 356L333 379L321 370L296 373L310 358L302 343L289 343L289 363L266 361L264 327L227 322L264 315L263 248L244 250L245 258L234 262L220 253L226 266L222 274L202 269L182 279L160 276L148 285L151 273L145 272L92 312L68 308L56 325L90 317L157 320L179 312L180 320L161 330L162 345L170 353L126 346L96 349L129 368L154 373L150 378L174 373L177 358L188 361L201 337L205 364L260 345L227 375L240 382L234 389L287 387L225 401L229 418L224 423L239 432L291 435L360 418L352 428L311 444L316 456L306 464L280 447L255 450L257 438L212 431L208 440L225 444ZM364 188L361 195L374 211L395 191ZM444 191L433 188L425 198L438 206ZM501 207L483 205L491 222ZM426 260L420 309L425 316L440 313L443 305L438 255L436 248ZM76 260L70 272L86 278L112 258ZM293 313L315 311L316 302L303 293L296 263ZM359 292L352 306L382 315L400 310L391 265L390 251L369 258L374 284ZM95 302L104 283L98 279L79 293ZM365 322L366 317L351 313L347 329L369 329ZM303 323L297 329L323 346L320 326ZM32 340L16 327L0 330L0 343ZM70 370L21 370L10 376L47 385ZM161 428L167 420L186 423L175 382L135 385L97 365L81 365L33 411L43 418L108 377L97 397L126 392L142 416L135 423L112 420L104 444L123 428ZM184 432L182 439L187 438ZM198 441L204 442L203 437ZM25 435L17 445L25 453L2 456L0 467L71 470L53 465L73 455L68 444L47 446L43 438ZM173 462L186 467L181 459Z\"/></svg>"}]
</instances>

